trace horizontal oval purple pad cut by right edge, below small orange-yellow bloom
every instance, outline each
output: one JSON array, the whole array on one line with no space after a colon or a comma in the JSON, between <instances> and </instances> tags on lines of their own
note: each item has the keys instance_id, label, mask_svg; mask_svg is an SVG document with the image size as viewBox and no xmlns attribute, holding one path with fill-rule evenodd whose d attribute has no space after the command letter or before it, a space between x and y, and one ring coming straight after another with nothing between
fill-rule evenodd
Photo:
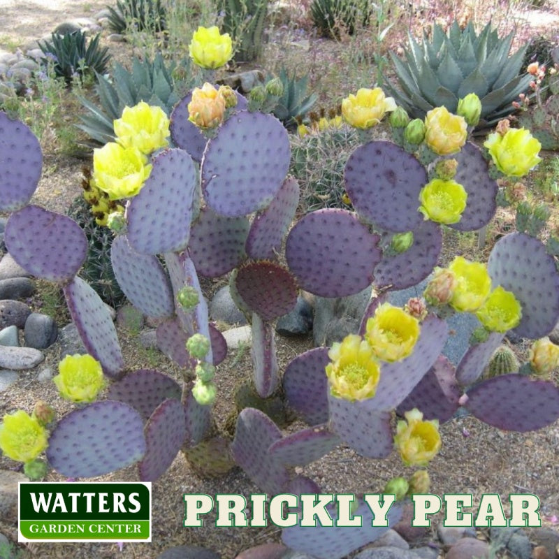
<instances>
[{"instance_id":1,"label":"horizontal oval purple pad cut by right edge, below small orange-yellow bloom","mask_svg":"<svg viewBox=\"0 0 559 559\"><path fill-rule=\"evenodd\" d=\"M559 387L551 381L511 373L480 382L467 395L468 412L498 429L525 433L559 418Z\"/></svg>"}]
</instances>

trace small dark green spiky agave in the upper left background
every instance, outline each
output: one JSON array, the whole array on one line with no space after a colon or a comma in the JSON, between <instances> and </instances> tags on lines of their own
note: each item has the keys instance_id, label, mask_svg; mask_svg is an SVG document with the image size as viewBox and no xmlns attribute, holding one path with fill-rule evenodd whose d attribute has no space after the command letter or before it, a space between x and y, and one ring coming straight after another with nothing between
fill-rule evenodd
<instances>
[{"instance_id":1,"label":"small dark green spiky agave in the upper left background","mask_svg":"<svg viewBox=\"0 0 559 559\"><path fill-rule=\"evenodd\" d=\"M66 35L53 33L51 41L38 41L38 45L45 61L50 57L55 62L56 75L70 83L75 74L83 77L85 73L105 73L110 54L107 47L99 46L100 36L94 36L87 45L82 31Z\"/></svg>"}]
</instances>

